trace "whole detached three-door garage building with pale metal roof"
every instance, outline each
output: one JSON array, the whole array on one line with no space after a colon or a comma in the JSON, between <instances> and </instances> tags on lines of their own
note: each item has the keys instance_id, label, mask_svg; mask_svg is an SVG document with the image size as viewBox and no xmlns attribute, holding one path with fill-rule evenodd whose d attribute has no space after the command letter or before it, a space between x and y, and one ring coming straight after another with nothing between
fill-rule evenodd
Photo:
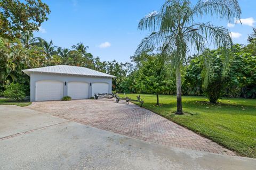
<instances>
[{"instance_id":1,"label":"whole detached three-door garage building with pale metal roof","mask_svg":"<svg viewBox=\"0 0 256 170\"><path fill-rule=\"evenodd\" d=\"M22 70L30 77L30 101L87 99L111 93L113 75L69 65Z\"/></svg>"}]
</instances>

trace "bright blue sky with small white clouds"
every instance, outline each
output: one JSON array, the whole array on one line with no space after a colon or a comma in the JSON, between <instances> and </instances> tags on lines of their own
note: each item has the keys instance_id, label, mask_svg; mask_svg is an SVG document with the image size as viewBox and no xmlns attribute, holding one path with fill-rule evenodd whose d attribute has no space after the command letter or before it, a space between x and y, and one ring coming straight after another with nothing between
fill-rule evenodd
<instances>
[{"instance_id":1,"label":"bright blue sky with small white clouds","mask_svg":"<svg viewBox=\"0 0 256 170\"><path fill-rule=\"evenodd\" d=\"M71 48L82 42L88 52L101 61L130 61L130 56L147 31L137 30L138 22L146 14L157 11L164 0L43 0L51 13L35 37L53 40L55 46ZM197 1L192 1L196 3ZM212 18L215 25L228 27L234 43L246 44L247 35L256 27L255 0L238 0L242 8L242 23L229 24Z\"/></svg>"}]
</instances>

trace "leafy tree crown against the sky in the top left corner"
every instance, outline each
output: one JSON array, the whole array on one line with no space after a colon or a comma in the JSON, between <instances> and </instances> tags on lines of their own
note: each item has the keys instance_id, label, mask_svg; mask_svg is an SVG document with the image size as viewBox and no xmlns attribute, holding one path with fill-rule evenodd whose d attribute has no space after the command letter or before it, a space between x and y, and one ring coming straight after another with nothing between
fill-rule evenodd
<instances>
[{"instance_id":1,"label":"leafy tree crown against the sky in the top left corner","mask_svg":"<svg viewBox=\"0 0 256 170\"><path fill-rule=\"evenodd\" d=\"M42 22L50 14L49 6L41 0L1 0L0 1L0 36L20 38L21 32L38 31Z\"/></svg>"}]
</instances>

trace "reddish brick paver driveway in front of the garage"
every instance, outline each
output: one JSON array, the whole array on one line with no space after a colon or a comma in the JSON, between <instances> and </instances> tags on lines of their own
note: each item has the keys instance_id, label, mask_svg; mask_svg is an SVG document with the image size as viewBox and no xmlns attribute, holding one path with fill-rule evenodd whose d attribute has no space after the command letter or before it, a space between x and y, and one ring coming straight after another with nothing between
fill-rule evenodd
<instances>
[{"instance_id":1,"label":"reddish brick paver driveway in front of the garage","mask_svg":"<svg viewBox=\"0 0 256 170\"><path fill-rule=\"evenodd\" d=\"M42 101L28 108L160 145L235 155L145 108L112 99Z\"/></svg>"}]
</instances>

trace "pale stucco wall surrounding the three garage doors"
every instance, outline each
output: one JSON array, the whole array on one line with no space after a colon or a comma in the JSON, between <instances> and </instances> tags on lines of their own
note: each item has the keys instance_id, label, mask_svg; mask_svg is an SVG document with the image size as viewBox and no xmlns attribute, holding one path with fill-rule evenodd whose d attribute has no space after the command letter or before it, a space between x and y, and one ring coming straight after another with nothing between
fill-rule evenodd
<instances>
[{"instance_id":1,"label":"pale stucco wall surrounding the three garage doors","mask_svg":"<svg viewBox=\"0 0 256 170\"><path fill-rule=\"evenodd\" d=\"M67 75L67 74L50 74L50 73L31 73L30 74L30 101L35 101L36 98L36 82L40 80L56 80L64 84L63 96L68 94L68 82L81 81L89 83L89 98L92 97L92 86L90 83L104 82L109 84L109 93L112 91L112 79L111 78L100 78L100 77L87 77L82 75Z\"/></svg>"}]
</instances>

